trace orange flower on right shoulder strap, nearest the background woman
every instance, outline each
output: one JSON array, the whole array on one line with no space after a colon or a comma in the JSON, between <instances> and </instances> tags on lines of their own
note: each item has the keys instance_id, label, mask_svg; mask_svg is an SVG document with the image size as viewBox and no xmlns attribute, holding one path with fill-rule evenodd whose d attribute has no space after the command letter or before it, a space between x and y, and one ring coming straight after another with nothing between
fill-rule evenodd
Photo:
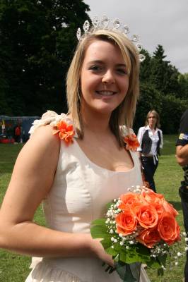
<instances>
[{"instance_id":1,"label":"orange flower on right shoulder strap, nearest the background woman","mask_svg":"<svg viewBox=\"0 0 188 282\"><path fill-rule=\"evenodd\" d=\"M126 149L136 151L140 144L134 131L131 128L127 130L125 125L120 126L120 130L124 137L124 142L126 143Z\"/></svg>"}]
</instances>

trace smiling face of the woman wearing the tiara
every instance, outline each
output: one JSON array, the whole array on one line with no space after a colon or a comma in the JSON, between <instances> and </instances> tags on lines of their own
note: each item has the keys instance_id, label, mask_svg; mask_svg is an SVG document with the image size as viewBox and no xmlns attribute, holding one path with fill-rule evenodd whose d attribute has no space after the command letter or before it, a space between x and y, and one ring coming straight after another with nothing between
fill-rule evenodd
<instances>
[{"instance_id":1,"label":"smiling face of the woman wearing the tiara","mask_svg":"<svg viewBox=\"0 0 188 282\"><path fill-rule=\"evenodd\" d=\"M81 69L84 111L110 116L124 100L128 87L127 66L119 47L102 40L93 41Z\"/></svg>"}]
</instances>

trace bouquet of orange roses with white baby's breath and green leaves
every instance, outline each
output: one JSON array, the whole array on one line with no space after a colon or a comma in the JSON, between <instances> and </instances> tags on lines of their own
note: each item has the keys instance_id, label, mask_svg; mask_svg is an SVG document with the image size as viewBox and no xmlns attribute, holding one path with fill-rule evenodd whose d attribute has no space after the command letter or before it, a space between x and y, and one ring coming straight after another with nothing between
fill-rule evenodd
<instances>
[{"instance_id":1,"label":"bouquet of orange roses with white baby's breath and green leaves","mask_svg":"<svg viewBox=\"0 0 188 282\"><path fill-rule=\"evenodd\" d=\"M172 204L144 186L132 190L108 204L105 218L93 221L90 230L93 238L102 239L122 280L129 282L139 281L141 264L162 275L170 245L180 240Z\"/></svg>"}]
</instances>

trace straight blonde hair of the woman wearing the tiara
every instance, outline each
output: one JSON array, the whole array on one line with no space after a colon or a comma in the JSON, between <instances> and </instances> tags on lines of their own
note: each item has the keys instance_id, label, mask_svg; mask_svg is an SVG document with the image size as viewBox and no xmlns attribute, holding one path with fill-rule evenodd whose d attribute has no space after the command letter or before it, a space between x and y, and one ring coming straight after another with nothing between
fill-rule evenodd
<instances>
[{"instance_id":1,"label":"straight blonde hair of the woman wearing the tiara","mask_svg":"<svg viewBox=\"0 0 188 282\"><path fill-rule=\"evenodd\" d=\"M81 118L81 68L90 44L96 40L110 42L119 47L127 65L129 73L129 88L121 104L117 106L110 117L110 128L119 145L123 146L122 135L119 125L127 125L131 128L136 112L136 102L139 98L139 52L133 42L122 32L117 30L96 30L90 32L81 39L76 48L74 58L66 78L66 97L71 114L79 137L83 138L83 123Z\"/></svg>"}]
</instances>

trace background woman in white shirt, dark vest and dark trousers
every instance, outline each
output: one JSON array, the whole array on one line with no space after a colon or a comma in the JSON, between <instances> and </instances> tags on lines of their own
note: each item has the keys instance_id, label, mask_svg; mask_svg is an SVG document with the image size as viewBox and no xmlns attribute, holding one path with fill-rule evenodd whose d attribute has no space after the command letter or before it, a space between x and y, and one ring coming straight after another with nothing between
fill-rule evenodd
<instances>
[{"instance_id":1,"label":"background woman in white shirt, dark vest and dark trousers","mask_svg":"<svg viewBox=\"0 0 188 282\"><path fill-rule=\"evenodd\" d=\"M149 111L145 126L139 128L137 151L140 153L143 175L149 188L156 192L154 174L158 167L158 155L163 148L163 132L160 128L160 118L154 109Z\"/></svg>"}]
</instances>

